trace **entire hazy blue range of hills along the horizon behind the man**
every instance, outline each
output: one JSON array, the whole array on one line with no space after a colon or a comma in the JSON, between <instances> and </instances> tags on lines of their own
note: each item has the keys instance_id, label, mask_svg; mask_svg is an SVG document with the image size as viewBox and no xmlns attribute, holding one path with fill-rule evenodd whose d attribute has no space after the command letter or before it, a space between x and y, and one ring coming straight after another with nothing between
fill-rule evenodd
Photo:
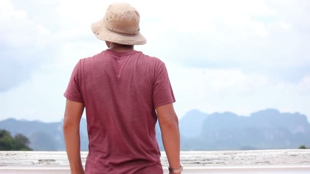
<instances>
[{"instance_id":1,"label":"entire hazy blue range of hills along the horizon behind the man","mask_svg":"<svg viewBox=\"0 0 310 174\"><path fill-rule=\"evenodd\" d=\"M310 146L310 124L300 113L280 113L275 109L261 110L248 117L223 112L206 114L191 110L179 120L181 150L252 150L297 149ZM36 151L64 151L62 122L43 123L7 119L0 122L14 136L22 133ZM88 150L87 124L81 121L81 150ZM159 125L156 126L159 147L163 150Z\"/></svg>"}]
</instances>

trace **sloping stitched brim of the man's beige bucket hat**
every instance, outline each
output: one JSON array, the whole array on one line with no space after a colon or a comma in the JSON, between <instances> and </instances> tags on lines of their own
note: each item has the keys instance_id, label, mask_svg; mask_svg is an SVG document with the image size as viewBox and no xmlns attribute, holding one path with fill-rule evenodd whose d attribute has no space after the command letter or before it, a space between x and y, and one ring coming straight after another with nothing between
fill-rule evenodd
<instances>
[{"instance_id":1,"label":"sloping stitched brim of the man's beige bucket hat","mask_svg":"<svg viewBox=\"0 0 310 174\"><path fill-rule=\"evenodd\" d=\"M104 19L99 20L91 24L91 30L94 35L104 41L109 41L113 43L123 44L123 45L143 45L146 43L146 39L143 35L122 35L108 30L104 25Z\"/></svg>"}]
</instances>

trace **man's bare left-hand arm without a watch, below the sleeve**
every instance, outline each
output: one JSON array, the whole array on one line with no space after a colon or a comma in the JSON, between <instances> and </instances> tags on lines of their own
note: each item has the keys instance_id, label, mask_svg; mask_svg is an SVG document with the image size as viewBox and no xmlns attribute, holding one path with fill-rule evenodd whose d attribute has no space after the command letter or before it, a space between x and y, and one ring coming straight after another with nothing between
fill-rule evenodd
<instances>
[{"instance_id":1,"label":"man's bare left-hand arm without a watch, below the sleeve","mask_svg":"<svg viewBox=\"0 0 310 174\"><path fill-rule=\"evenodd\" d=\"M83 111L83 103L67 99L63 130L72 174L84 174L80 152L80 121Z\"/></svg>"}]
</instances>

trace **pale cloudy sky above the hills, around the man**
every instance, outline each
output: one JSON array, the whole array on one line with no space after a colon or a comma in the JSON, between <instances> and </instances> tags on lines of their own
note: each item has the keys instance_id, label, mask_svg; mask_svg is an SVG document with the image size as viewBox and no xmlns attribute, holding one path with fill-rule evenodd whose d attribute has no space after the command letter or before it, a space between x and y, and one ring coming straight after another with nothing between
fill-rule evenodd
<instances>
[{"instance_id":1,"label":"pale cloudy sky above the hills, around the man","mask_svg":"<svg viewBox=\"0 0 310 174\"><path fill-rule=\"evenodd\" d=\"M116 1L0 1L0 120L61 121L74 65L107 49L90 24ZM118 2L118 1L117 1ZM127 1L165 62L179 118L274 108L310 120L310 1Z\"/></svg>"}]
</instances>

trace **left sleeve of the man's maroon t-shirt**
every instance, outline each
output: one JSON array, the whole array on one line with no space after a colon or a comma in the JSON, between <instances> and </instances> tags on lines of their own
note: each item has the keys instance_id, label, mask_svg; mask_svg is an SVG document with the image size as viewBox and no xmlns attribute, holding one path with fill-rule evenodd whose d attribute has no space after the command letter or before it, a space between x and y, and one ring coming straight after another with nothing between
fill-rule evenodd
<instances>
[{"instance_id":1,"label":"left sleeve of the man's maroon t-shirt","mask_svg":"<svg viewBox=\"0 0 310 174\"><path fill-rule=\"evenodd\" d=\"M71 78L64 96L71 101L83 102L81 94L81 75L80 75L80 61L75 65Z\"/></svg>"}]
</instances>

